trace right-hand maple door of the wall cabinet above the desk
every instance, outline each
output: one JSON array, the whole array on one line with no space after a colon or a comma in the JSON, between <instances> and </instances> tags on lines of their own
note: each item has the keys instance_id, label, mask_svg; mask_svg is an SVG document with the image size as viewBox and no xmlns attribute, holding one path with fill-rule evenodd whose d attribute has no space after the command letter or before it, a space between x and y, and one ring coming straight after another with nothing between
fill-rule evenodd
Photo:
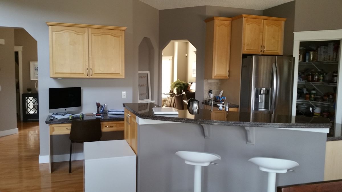
<instances>
[{"instance_id":1,"label":"right-hand maple door of the wall cabinet above the desk","mask_svg":"<svg viewBox=\"0 0 342 192\"><path fill-rule=\"evenodd\" d=\"M124 31L89 28L90 78L124 78Z\"/></svg>"}]
</instances>

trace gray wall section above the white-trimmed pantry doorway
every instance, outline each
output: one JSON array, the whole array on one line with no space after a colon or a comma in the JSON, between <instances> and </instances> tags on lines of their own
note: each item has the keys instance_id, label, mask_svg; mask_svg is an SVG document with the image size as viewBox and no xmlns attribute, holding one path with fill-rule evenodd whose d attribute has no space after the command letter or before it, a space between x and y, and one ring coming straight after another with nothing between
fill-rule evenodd
<instances>
[{"instance_id":1,"label":"gray wall section above the white-trimmed pantry doorway","mask_svg":"<svg viewBox=\"0 0 342 192\"><path fill-rule=\"evenodd\" d=\"M296 0L294 31L342 29L341 0Z\"/></svg>"}]
</instances>

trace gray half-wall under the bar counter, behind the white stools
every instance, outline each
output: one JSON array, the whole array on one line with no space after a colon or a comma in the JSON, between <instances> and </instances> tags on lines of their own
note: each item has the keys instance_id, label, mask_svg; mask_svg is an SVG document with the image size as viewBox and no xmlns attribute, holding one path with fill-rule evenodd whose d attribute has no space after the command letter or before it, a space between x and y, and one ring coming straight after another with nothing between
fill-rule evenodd
<instances>
[{"instance_id":1,"label":"gray half-wall under the bar counter, behind the white stools","mask_svg":"<svg viewBox=\"0 0 342 192\"><path fill-rule=\"evenodd\" d=\"M264 192L267 172L248 160L263 156L299 163L295 172L277 174L276 186L322 181L326 134L275 128L255 128L255 145L246 144L246 130L212 125L211 138L192 123L138 126L138 191L193 191L194 166L177 151L216 153L218 165L202 168L202 191ZM151 142L153 140L153 142ZM148 176L148 177L146 177Z\"/></svg>"}]
</instances>

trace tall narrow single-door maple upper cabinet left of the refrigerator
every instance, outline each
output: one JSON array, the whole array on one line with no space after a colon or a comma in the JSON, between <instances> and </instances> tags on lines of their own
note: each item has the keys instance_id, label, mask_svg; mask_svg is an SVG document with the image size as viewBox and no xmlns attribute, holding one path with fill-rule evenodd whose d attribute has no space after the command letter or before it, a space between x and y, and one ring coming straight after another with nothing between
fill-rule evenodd
<instances>
[{"instance_id":1,"label":"tall narrow single-door maple upper cabinet left of the refrigerator","mask_svg":"<svg viewBox=\"0 0 342 192\"><path fill-rule=\"evenodd\" d=\"M205 78L228 79L231 18L212 17L206 22Z\"/></svg>"}]
</instances>

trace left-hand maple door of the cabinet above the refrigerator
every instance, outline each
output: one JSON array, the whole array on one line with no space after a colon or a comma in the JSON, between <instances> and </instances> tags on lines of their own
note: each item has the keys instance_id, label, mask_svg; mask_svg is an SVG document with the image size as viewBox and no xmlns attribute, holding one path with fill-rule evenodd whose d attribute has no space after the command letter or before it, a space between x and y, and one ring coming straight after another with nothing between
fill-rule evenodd
<instances>
[{"instance_id":1,"label":"left-hand maple door of the cabinet above the refrigerator","mask_svg":"<svg viewBox=\"0 0 342 192\"><path fill-rule=\"evenodd\" d=\"M263 19L244 18L242 53L262 54Z\"/></svg>"}]
</instances>

